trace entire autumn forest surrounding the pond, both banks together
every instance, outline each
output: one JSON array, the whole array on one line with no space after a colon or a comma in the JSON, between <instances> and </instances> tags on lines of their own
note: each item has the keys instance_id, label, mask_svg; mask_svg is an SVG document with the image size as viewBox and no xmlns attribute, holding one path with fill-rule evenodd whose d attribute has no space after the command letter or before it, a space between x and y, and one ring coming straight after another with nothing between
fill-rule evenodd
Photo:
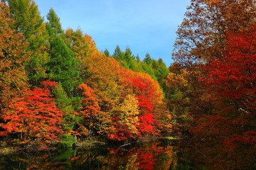
<instances>
[{"instance_id":1,"label":"entire autumn forest surrounding the pond, both banks together","mask_svg":"<svg viewBox=\"0 0 256 170\"><path fill-rule=\"evenodd\" d=\"M53 8L44 18L33 0L2 1L1 147L173 137L219 162L213 169L253 169L255 4L191 0L166 67L129 47L99 51L80 28L63 30Z\"/></svg>"}]
</instances>

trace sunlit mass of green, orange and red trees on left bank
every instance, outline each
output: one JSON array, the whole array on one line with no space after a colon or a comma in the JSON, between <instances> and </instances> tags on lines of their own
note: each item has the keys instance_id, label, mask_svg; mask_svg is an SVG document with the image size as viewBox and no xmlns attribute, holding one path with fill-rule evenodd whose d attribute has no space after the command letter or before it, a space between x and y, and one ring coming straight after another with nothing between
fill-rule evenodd
<instances>
[{"instance_id":1,"label":"sunlit mass of green, orange and red trees on left bank","mask_svg":"<svg viewBox=\"0 0 256 170\"><path fill-rule=\"evenodd\" d=\"M163 92L152 78L168 72L162 60L149 57L156 65L152 77L119 64L82 30L63 30L53 8L44 22L32 0L1 2L0 13L1 140L65 147L76 138L139 140L171 130ZM134 62L130 50L121 53Z\"/></svg>"}]
</instances>

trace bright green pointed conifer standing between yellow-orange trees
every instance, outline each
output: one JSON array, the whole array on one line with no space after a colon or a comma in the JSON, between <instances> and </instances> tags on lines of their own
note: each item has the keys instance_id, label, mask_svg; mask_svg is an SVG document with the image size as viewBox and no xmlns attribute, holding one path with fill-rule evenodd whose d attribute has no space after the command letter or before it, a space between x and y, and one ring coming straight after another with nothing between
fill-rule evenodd
<instances>
[{"instance_id":1,"label":"bright green pointed conifer standing between yellow-orange trees","mask_svg":"<svg viewBox=\"0 0 256 170\"><path fill-rule=\"evenodd\" d=\"M74 52L63 40L64 32L53 8L47 15L47 30L50 35L50 61L46 64L48 77L53 81L61 82L63 89L71 97L79 81L78 62Z\"/></svg>"}]
</instances>

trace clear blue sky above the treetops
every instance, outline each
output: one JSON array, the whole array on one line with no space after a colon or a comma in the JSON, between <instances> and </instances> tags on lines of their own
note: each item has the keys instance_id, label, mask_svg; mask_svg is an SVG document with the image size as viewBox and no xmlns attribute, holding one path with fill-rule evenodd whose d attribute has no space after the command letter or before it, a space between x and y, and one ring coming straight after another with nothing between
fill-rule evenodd
<instances>
[{"instance_id":1,"label":"clear blue sky above the treetops","mask_svg":"<svg viewBox=\"0 0 256 170\"><path fill-rule=\"evenodd\" d=\"M36 0L41 15L53 8L63 29L81 28L99 50L129 46L143 60L146 52L167 67L176 30L190 0Z\"/></svg>"}]
</instances>

